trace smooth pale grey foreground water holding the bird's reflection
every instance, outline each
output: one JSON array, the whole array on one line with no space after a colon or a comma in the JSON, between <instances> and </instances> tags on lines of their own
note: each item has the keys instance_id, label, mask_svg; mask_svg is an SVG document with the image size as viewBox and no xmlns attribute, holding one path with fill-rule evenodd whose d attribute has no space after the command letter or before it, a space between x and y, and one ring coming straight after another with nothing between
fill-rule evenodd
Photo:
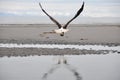
<instances>
[{"instance_id":1,"label":"smooth pale grey foreground water holding the bird's reflection","mask_svg":"<svg viewBox=\"0 0 120 80\"><path fill-rule=\"evenodd\" d=\"M0 58L0 80L120 80L120 55Z\"/></svg>"}]
</instances>

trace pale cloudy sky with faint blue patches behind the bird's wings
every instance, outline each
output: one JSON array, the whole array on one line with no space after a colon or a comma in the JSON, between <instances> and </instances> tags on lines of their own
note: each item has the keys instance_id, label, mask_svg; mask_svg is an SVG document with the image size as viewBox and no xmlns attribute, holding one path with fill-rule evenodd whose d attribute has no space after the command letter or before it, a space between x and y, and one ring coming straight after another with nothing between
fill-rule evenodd
<instances>
[{"instance_id":1,"label":"pale cloudy sky with faint blue patches behind the bird's wings","mask_svg":"<svg viewBox=\"0 0 120 80\"><path fill-rule=\"evenodd\" d=\"M55 19L66 23L81 7L83 0L0 0L0 23L52 23L41 11L39 2ZM83 12L73 23L85 23L94 18L101 22L102 18L120 22L120 0L84 0L84 2Z\"/></svg>"}]
</instances>

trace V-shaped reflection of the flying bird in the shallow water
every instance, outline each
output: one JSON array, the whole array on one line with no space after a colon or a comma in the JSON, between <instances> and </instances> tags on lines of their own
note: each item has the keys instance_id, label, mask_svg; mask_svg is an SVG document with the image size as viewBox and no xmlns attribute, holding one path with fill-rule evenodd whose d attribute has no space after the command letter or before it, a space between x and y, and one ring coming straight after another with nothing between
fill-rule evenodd
<instances>
[{"instance_id":1,"label":"V-shaped reflection of the flying bird in the shallow water","mask_svg":"<svg viewBox=\"0 0 120 80\"><path fill-rule=\"evenodd\" d=\"M76 68L70 65L64 56L59 56L59 58L57 59L57 64L53 65L52 68L50 68L46 73L44 73L42 79L48 79L49 75L53 74L58 68L61 68L61 66L63 65L73 74L73 76L76 78L75 80L82 80L82 77L80 76Z\"/></svg>"}]
</instances>

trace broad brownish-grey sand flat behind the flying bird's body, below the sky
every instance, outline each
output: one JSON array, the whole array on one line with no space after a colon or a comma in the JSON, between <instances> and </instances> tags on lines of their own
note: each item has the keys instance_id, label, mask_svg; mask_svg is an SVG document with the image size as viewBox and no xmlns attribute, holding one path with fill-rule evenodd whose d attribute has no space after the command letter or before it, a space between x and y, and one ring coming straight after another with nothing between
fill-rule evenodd
<instances>
[{"instance_id":1,"label":"broad brownish-grey sand flat behind the flying bird's body, below the sky","mask_svg":"<svg viewBox=\"0 0 120 80\"><path fill-rule=\"evenodd\" d=\"M120 43L119 25L70 25L64 37L43 32L57 29L56 25L0 25L0 41L57 41L81 43Z\"/></svg>"}]
</instances>

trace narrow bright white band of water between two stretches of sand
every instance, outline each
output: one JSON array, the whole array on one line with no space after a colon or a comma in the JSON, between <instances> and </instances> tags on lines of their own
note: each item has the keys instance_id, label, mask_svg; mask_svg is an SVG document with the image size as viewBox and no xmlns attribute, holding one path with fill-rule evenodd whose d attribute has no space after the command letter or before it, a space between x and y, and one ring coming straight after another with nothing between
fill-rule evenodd
<instances>
[{"instance_id":1,"label":"narrow bright white band of water between two stretches of sand","mask_svg":"<svg viewBox=\"0 0 120 80\"><path fill-rule=\"evenodd\" d=\"M107 45L74 45L74 44L17 44L17 43L0 43L1 48L58 48L58 49L86 49L86 50L117 50L120 46Z\"/></svg>"}]
</instances>

